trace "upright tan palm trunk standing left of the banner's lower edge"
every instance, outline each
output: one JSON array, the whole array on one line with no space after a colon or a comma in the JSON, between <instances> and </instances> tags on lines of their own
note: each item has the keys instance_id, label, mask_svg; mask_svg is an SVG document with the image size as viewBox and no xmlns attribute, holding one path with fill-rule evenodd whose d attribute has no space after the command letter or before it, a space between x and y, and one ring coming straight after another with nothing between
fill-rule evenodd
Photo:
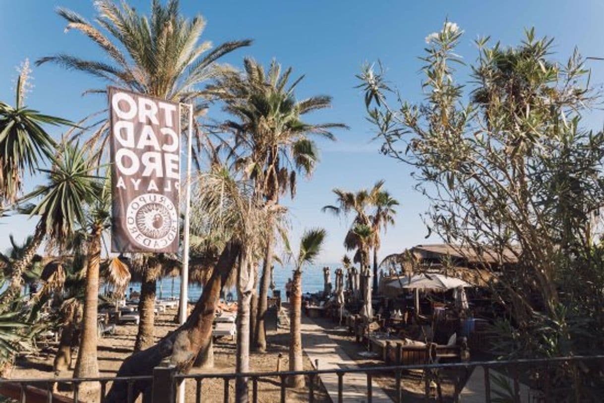
<instances>
[{"instance_id":1,"label":"upright tan palm trunk standing left of the banner's lower edge","mask_svg":"<svg viewBox=\"0 0 604 403\"><path fill-rule=\"evenodd\" d=\"M103 228L100 226L92 228L88 244L83 329L82 336L80 337L80 349L78 350L74 378L91 378L98 376L98 268L101 262L102 230Z\"/></svg>"}]
</instances>

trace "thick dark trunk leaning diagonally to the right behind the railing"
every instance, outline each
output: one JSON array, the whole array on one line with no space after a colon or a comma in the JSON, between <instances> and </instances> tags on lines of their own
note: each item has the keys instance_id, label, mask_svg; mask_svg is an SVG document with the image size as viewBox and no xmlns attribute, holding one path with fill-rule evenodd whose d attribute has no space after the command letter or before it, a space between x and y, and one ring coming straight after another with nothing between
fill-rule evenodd
<instances>
[{"instance_id":1,"label":"thick dark trunk leaning diagonally to the right behind the railing","mask_svg":"<svg viewBox=\"0 0 604 403\"><path fill-rule=\"evenodd\" d=\"M133 353L133 355L126 358L121 364L117 376L152 375L153 368L167 357L170 357L170 363L174 364L181 372L187 373L191 369L194 358L199 354L202 344L208 337L211 337L220 289L231 273L240 249L239 243L231 241L227 244L187 321L174 332L159 340L154 346ZM149 396L151 385L151 381L134 382L132 388L133 401L136 401L141 393ZM127 382L113 382L106 403L127 401L127 391Z\"/></svg>"}]
</instances>

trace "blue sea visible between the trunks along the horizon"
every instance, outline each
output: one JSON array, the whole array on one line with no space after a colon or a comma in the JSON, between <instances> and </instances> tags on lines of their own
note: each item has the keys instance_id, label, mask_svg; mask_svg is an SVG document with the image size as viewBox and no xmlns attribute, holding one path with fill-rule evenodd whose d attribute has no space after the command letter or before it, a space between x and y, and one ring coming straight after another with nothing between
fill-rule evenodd
<instances>
[{"instance_id":1,"label":"blue sea visible between the trunks along the horizon","mask_svg":"<svg viewBox=\"0 0 604 403\"><path fill-rule=\"evenodd\" d=\"M323 268L329 266L331 269L329 274L332 280L332 284L335 285L335 269L340 267L338 263L318 263L315 265L306 265L302 269L302 292L317 292L323 290ZM260 268L262 270L262 268ZM275 263L275 269L273 272L273 281L275 283L275 290L281 291L281 298L285 298L285 284L288 279L293 276L294 267L292 265L278 265ZM141 283L132 282L129 288L132 291L140 292ZM195 303L199 300L201 292L203 291L202 286L197 284L188 285L188 301ZM127 289L126 293L129 292ZM227 291L228 293L229 291ZM237 298L237 292L235 289L230 290L233 293L234 298ZM164 277L157 282L156 295L158 298L179 298L181 294L181 278L180 277ZM126 295L128 296L128 295ZM269 289L269 297L272 296L272 292Z\"/></svg>"}]
</instances>

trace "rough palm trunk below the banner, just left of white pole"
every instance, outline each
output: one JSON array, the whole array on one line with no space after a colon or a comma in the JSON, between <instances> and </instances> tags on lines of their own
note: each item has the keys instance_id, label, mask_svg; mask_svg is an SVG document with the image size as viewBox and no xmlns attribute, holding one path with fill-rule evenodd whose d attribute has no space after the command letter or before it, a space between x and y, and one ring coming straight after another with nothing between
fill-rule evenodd
<instances>
[{"instance_id":1,"label":"rough palm trunk below the banner, just left of white pole","mask_svg":"<svg viewBox=\"0 0 604 403\"><path fill-rule=\"evenodd\" d=\"M143 279L141 280L141 296L138 300L138 322L137 341L134 343L134 351L148 349L153 346L153 330L155 328L155 291L156 273L158 268L145 267Z\"/></svg>"}]
</instances>

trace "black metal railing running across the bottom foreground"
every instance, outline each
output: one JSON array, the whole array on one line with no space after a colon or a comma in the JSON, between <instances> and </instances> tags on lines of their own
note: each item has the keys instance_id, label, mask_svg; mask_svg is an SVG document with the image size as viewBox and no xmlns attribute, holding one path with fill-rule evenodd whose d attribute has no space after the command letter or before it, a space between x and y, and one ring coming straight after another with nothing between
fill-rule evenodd
<instances>
[{"instance_id":1,"label":"black metal railing running across the bottom foreground","mask_svg":"<svg viewBox=\"0 0 604 403\"><path fill-rule=\"evenodd\" d=\"M237 382L237 379L243 379L251 390L251 401L257 403L259 401L259 384L261 382L268 382L277 385L278 393L280 395L280 401L286 402L287 393L287 380L289 376L303 375L307 376L307 390L309 402L314 402L318 388L321 385L320 379L324 375L336 375L337 376L337 393L333 390L330 385L330 393L335 396L331 396L333 400L338 403L342 403L345 399L344 385L346 381L346 375L352 373L364 374L366 383L367 402L370 403L373 399L373 379L376 375L393 376L394 380L394 391L389 388L390 396L396 403L401 403L405 399L405 388L403 388L403 373L410 372L412 370L422 370L423 379L425 381L424 397L428 399L433 392L429 387L429 384L434 378L429 374L434 374L439 371L449 371L458 374L457 379L463 378L460 374L469 375L477 369L482 367L483 373L482 378L484 380L483 390L475 391L482 392L484 395L484 401L487 403L492 402L492 370L498 369L500 372L505 373L506 376L512 381L513 396L512 401L521 401L521 380L525 381L521 376L523 369L541 369L544 373L544 379L540 380L539 393L541 397L535 401L539 402L551 402L552 393L554 388L551 384L551 379L548 376L548 370L554 369L556 366L568 366L571 368L571 373L574 376L580 376L580 367L583 370L586 364L594 363L600 364L599 372L604 370L604 355L594 356L570 356L570 357L558 357L558 358L537 358L537 359L515 359L508 361L472 361L465 363L438 363L438 364L423 364L423 365L399 365L399 366L374 366L374 367L355 367L355 368L338 368L338 369L315 369L306 371L282 371L282 372L250 372L250 373L195 373L195 374L181 374L177 373L175 367L156 367L153 370L153 375L148 376L120 376L120 377L99 377L99 378L48 378L48 379L1 379L0 388L7 390L10 385L13 388L13 397L18 399L19 402L40 402L40 403L62 403L62 402L80 402L80 385L84 382L92 382L100 384L100 403L106 401L106 395L108 387L116 382L124 382L127 390L127 401L125 403L133 403L135 400L135 390L137 382L145 382L146 384L152 385L150 401L152 403L173 403L176 401L176 390L181 382L193 381L195 384L194 402L201 403L205 401L214 401L206 399L202 393L202 385L208 379L219 379L222 381L223 387L223 401L228 403L233 396L231 393L231 382ZM428 375L427 375L428 374ZM522 378L522 379L521 379ZM467 378L466 378L467 379ZM276 380L276 381L275 381ZM603 380L604 381L604 380ZM458 401L459 393L461 392L461 385L464 382L455 382L455 391L453 395L454 401ZM67 384L71 385L72 398L65 398L60 395L53 394L54 385L56 384ZM35 388L33 390L32 388ZM440 385L439 385L440 388ZM147 390L149 390L147 388ZM572 401L591 401L582 400L580 391L569 390L575 395L570 395ZM34 398L29 397L34 395ZM42 397L40 394L43 394ZM18 396L17 396L18 395ZM417 397L417 396L416 396ZM438 396L436 396L438 398ZM147 400L146 400L147 401ZM427 401L427 400L426 400ZM523 399L522 401L525 401ZM593 401L604 401L604 396L600 396L600 400ZM187 400L190 403L191 399Z\"/></svg>"}]
</instances>

